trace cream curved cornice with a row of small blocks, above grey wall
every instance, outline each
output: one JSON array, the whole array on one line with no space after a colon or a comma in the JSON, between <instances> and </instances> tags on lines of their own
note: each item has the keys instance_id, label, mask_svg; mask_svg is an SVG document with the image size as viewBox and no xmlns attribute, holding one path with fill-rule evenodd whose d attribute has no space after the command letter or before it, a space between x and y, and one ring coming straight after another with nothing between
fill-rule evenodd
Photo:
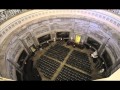
<instances>
[{"instance_id":1,"label":"cream curved cornice with a row of small blocks, above grey wall","mask_svg":"<svg viewBox=\"0 0 120 90\"><path fill-rule=\"evenodd\" d=\"M105 10L31 10L27 13L20 14L19 17L12 18L2 24L0 28L0 41L2 42L10 32L21 25L24 25L35 19L42 19L43 17L49 19L50 16L53 16L54 18L60 16L73 18L77 16L93 18L109 24L109 26L114 27L116 30L119 30L120 28L120 17L106 12Z\"/></svg>"}]
</instances>

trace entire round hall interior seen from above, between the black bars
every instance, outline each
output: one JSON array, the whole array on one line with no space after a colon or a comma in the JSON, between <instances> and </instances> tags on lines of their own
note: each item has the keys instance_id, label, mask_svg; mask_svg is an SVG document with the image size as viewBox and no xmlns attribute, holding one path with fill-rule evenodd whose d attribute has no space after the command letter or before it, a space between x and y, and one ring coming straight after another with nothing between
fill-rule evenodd
<instances>
[{"instance_id":1,"label":"entire round hall interior seen from above, between the black bars","mask_svg":"<svg viewBox=\"0 0 120 90\"><path fill-rule=\"evenodd\" d=\"M1 9L0 81L120 80L120 9Z\"/></svg>"}]
</instances>

